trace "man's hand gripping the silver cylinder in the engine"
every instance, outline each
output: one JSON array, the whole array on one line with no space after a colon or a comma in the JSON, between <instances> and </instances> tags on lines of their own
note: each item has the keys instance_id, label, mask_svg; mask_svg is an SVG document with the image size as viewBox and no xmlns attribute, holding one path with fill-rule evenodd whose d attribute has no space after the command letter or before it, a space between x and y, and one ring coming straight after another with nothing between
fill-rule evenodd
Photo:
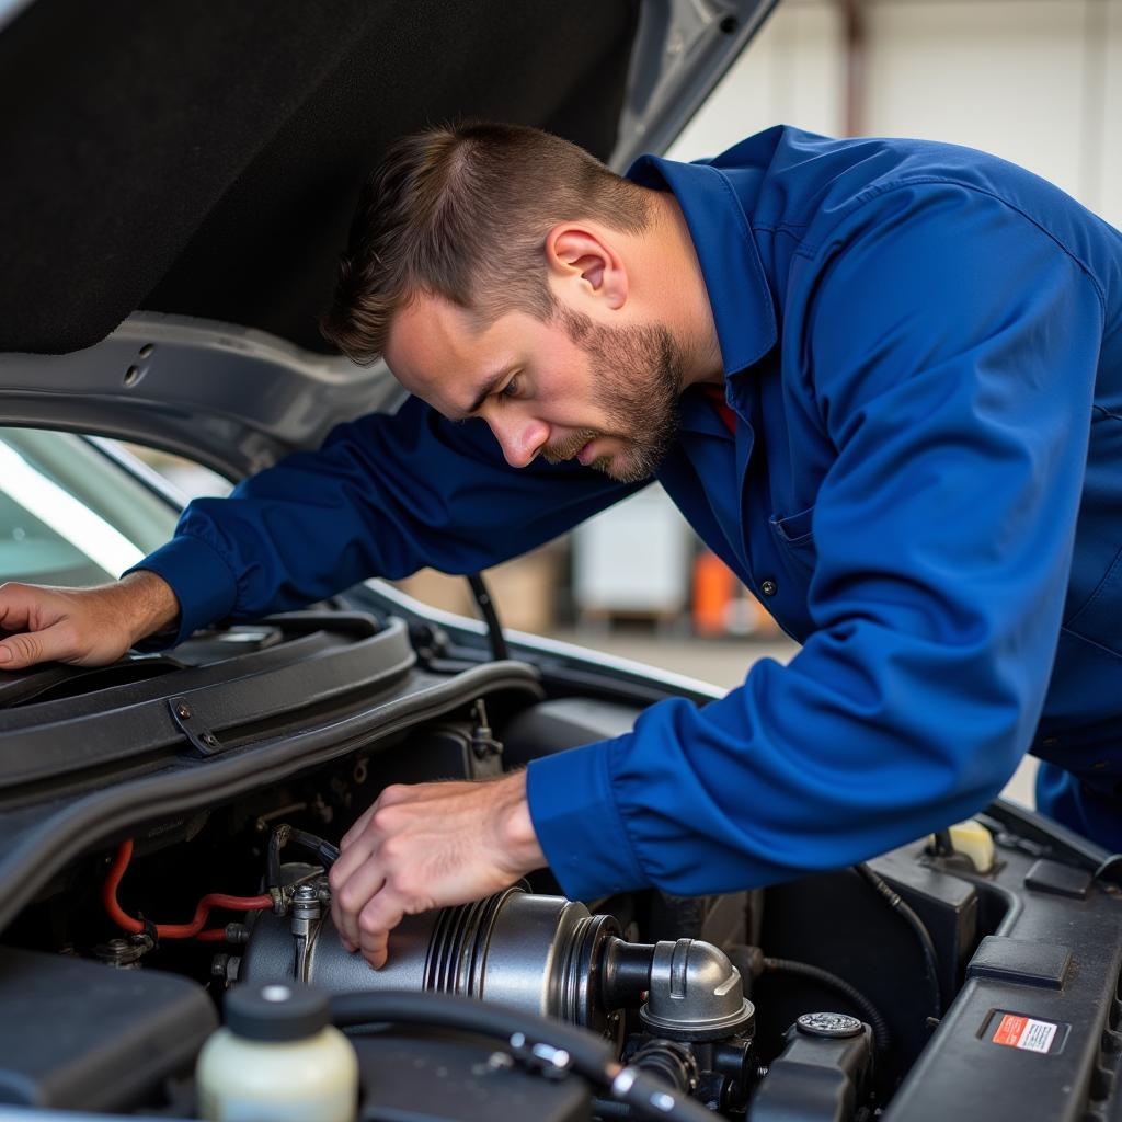
<instances>
[{"instance_id":1,"label":"man's hand gripping the silver cylinder in the engine","mask_svg":"<svg viewBox=\"0 0 1122 1122\"><path fill-rule=\"evenodd\" d=\"M480 900L544 864L525 772L387 787L343 837L331 914L343 946L377 968L402 917Z\"/></svg>"}]
</instances>

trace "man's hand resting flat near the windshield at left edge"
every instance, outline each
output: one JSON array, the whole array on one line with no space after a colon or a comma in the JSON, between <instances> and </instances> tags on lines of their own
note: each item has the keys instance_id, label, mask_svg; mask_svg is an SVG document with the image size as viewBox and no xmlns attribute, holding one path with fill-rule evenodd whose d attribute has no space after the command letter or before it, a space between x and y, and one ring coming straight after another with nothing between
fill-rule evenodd
<instances>
[{"instance_id":1,"label":"man's hand resting flat near the windshield at left edge","mask_svg":"<svg viewBox=\"0 0 1122 1122\"><path fill-rule=\"evenodd\" d=\"M100 588L0 585L0 670L102 666L180 614L171 586L139 570Z\"/></svg>"}]
</instances>

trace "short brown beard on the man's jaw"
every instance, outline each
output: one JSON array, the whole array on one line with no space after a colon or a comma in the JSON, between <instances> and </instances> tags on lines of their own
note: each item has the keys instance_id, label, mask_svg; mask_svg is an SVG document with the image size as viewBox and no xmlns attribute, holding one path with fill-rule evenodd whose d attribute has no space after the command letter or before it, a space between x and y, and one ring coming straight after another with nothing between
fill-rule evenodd
<instances>
[{"instance_id":1,"label":"short brown beard on the man's jaw","mask_svg":"<svg viewBox=\"0 0 1122 1122\"><path fill-rule=\"evenodd\" d=\"M571 460L592 440L623 443L614 456L591 465L622 484L650 479L678 435L678 398L684 380L681 349L661 324L608 328L591 316L558 307L555 315L588 356L595 404L607 417L605 430L582 429L542 451L550 463Z\"/></svg>"}]
</instances>

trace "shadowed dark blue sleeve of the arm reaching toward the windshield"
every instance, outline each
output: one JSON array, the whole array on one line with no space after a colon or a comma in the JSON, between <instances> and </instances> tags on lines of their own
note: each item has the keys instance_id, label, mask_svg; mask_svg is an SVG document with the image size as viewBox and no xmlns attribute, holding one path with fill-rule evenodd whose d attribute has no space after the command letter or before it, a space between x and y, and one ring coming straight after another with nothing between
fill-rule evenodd
<instances>
[{"instance_id":1,"label":"shadowed dark blue sleeve of the arm reaching toward the windshield","mask_svg":"<svg viewBox=\"0 0 1122 1122\"><path fill-rule=\"evenodd\" d=\"M454 424L415 397L339 425L323 447L196 499L136 568L181 606L180 642L232 617L303 607L369 577L425 565L477 572L636 490L573 463L515 470L482 421Z\"/></svg>"}]
</instances>

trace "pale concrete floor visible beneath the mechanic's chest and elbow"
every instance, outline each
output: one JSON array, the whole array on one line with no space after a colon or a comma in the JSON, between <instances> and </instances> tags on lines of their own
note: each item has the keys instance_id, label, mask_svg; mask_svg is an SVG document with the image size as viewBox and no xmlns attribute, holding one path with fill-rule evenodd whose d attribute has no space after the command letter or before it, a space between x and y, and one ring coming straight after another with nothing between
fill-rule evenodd
<instances>
[{"instance_id":1,"label":"pale concrete floor visible beneath the mechanic's chest and elbow","mask_svg":"<svg viewBox=\"0 0 1122 1122\"><path fill-rule=\"evenodd\" d=\"M748 668L760 659L775 659L785 663L799 650L787 638L705 640L620 627L557 632L554 637L592 646L619 657L646 662L663 670L673 670L679 674L689 674L725 689L743 682ZM1026 756L1003 792L1005 798L1028 807L1034 806L1032 784L1036 773L1036 760Z\"/></svg>"}]
</instances>

